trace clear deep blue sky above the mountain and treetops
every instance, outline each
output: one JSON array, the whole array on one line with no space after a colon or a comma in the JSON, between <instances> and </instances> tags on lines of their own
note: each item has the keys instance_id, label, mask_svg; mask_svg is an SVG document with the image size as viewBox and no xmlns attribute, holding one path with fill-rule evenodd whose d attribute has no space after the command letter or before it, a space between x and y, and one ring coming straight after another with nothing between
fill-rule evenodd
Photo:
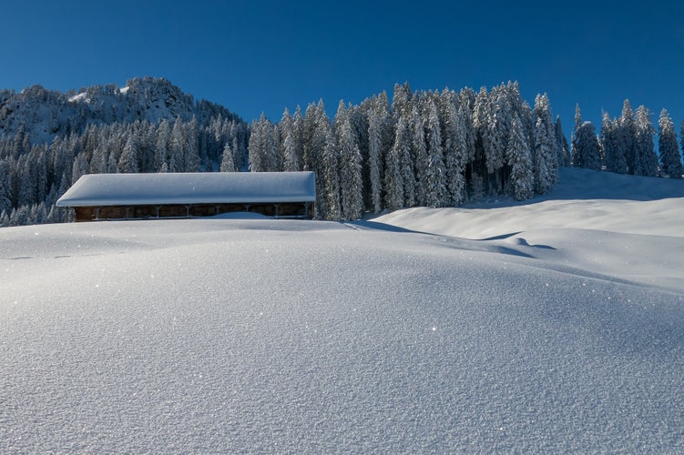
<instances>
[{"instance_id":1,"label":"clear deep blue sky above the mountain and treetops","mask_svg":"<svg viewBox=\"0 0 684 455\"><path fill-rule=\"evenodd\" d=\"M0 87L66 91L166 77L247 120L323 98L334 113L413 89L520 83L569 136L622 101L684 120L680 2L31 1L0 6ZM597 125L598 126L598 125Z\"/></svg>"}]
</instances>

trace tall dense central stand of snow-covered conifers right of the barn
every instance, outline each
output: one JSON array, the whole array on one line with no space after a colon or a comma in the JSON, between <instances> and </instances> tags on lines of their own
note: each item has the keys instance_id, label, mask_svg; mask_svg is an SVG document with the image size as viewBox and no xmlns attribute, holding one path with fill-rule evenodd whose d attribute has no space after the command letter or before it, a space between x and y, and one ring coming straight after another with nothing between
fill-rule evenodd
<instances>
[{"instance_id":1,"label":"tall dense central stand of snow-covered conifers right of the barn","mask_svg":"<svg viewBox=\"0 0 684 455\"><path fill-rule=\"evenodd\" d=\"M522 200L546 193L570 165L548 97L531 107L517 83L479 92L396 85L392 105L384 93L341 102L332 119L322 101L303 114L286 109L280 123L252 123L249 150L252 171L314 171L317 214L327 219L490 195Z\"/></svg>"}]
</instances>

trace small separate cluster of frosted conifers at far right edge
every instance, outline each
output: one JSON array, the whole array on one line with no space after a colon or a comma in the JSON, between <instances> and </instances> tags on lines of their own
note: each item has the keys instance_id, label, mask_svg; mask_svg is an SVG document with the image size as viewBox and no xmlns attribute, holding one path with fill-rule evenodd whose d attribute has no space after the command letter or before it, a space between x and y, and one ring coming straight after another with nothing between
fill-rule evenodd
<instances>
[{"instance_id":1,"label":"small separate cluster of frosted conifers at far right edge","mask_svg":"<svg viewBox=\"0 0 684 455\"><path fill-rule=\"evenodd\" d=\"M684 133L684 122L681 125ZM653 137L658 133L658 154ZM684 149L684 134L681 147ZM583 122L577 106L572 135L573 164L589 169L605 169L618 174L647 177L682 178L682 159L677 133L668 111L658 119L658 131L645 106L635 112L626 99L622 114L611 118L603 113L600 136L591 122Z\"/></svg>"}]
</instances>

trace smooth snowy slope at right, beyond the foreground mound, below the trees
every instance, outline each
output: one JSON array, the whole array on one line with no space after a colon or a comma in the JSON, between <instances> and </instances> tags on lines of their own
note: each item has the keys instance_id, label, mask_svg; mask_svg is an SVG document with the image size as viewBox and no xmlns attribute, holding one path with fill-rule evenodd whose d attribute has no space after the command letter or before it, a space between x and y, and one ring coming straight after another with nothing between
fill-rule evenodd
<instances>
[{"instance_id":1,"label":"smooth snowy slope at right, beyond the foreground mound, below the trees","mask_svg":"<svg viewBox=\"0 0 684 455\"><path fill-rule=\"evenodd\" d=\"M485 239L539 259L542 267L684 291L684 181L579 168L562 168L560 177L546 197L525 203L419 207L373 222Z\"/></svg>"}]
</instances>

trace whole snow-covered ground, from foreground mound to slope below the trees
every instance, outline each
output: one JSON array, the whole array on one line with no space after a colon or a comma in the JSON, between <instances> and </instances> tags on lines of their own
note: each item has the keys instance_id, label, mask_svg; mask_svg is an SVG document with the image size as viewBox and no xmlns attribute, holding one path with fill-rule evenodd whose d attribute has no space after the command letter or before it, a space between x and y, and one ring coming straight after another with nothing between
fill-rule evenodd
<instances>
[{"instance_id":1,"label":"whole snow-covered ground, from foreground mound to slope below the trees","mask_svg":"<svg viewBox=\"0 0 684 455\"><path fill-rule=\"evenodd\" d=\"M347 224L0 229L0 452L681 452L684 182L561 177Z\"/></svg>"}]
</instances>

